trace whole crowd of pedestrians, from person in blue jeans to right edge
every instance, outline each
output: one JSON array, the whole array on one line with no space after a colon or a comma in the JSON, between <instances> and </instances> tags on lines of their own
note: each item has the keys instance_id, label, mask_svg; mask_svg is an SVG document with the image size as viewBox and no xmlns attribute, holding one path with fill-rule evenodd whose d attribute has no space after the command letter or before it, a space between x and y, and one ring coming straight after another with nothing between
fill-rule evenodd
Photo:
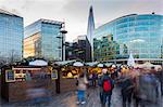
<instances>
[{"instance_id":1,"label":"whole crowd of pedestrians, from person in blue jeans to right edge","mask_svg":"<svg viewBox=\"0 0 163 107\"><path fill-rule=\"evenodd\" d=\"M111 105L112 90L116 86L121 89L123 107L148 107L148 105L158 105L163 96L163 69L155 70L151 68L134 68L129 66L102 68L102 73L97 71L88 73L88 69L78 77L78 102L85 101L86 88L100 86L100 99L102 107ZM83 78L83 79L80 79ZM109 80L109 83L105 83ZM106 90L108 91L104 91ZM158 107L158 106L155 106Z\"/></svg>"}]
</instances>

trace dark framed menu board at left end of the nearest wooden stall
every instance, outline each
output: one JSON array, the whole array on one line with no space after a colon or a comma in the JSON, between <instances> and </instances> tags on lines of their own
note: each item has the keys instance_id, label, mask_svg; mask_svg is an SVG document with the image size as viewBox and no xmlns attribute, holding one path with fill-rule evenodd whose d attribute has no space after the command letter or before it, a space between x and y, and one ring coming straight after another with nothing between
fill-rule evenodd
<instances>
[{"instance_id":1,"label":"dark framed menu board at left end of the nearest wooden stall","mask_svg":"<svg viewBox=\"0 0 163 107\"><path fill-rule=\"evenodd\" d=\"M15 81L15 73L14 70L5 70L5 82L14 82Z\"/></svg>"}]
</instances>

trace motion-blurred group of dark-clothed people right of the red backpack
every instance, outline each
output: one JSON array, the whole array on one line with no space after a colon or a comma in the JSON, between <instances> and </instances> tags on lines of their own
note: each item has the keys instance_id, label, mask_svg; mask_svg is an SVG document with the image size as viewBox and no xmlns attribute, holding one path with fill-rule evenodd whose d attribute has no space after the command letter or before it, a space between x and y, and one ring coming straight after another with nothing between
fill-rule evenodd
<instances>
[{"instance_id":1,"label":"motion-blurred group of dark-clothed people right of the red backpack","mask_svg":"<svg viewBox=\"0 0 163 107\"><path fill-rule=\"evenodd\" d=\"M116 84L121 88L123 107L130 107L131 101L135 107L156 105L163 95L163 70L129 67L120 72Z\"/></svg>"}]
</instances>

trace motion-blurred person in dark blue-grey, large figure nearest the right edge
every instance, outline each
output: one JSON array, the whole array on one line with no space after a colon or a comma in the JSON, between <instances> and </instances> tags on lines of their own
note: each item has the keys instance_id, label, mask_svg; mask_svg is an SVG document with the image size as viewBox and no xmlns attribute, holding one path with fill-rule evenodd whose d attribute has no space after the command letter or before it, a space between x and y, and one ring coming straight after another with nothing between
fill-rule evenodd
<instances>
[{"instance_id":1,"label":"motion-blurred person in dark blue-grey, large figure nearest the right edge","mask_svg":"<svg viewBox=\"0 0 163 107\"><path fill-rule=\"evenodd\" d=\"M154 76L143 69L137 80L136 107L148 107L151 104L156 104L156 79Z\"/></svg>"}]
</instances>

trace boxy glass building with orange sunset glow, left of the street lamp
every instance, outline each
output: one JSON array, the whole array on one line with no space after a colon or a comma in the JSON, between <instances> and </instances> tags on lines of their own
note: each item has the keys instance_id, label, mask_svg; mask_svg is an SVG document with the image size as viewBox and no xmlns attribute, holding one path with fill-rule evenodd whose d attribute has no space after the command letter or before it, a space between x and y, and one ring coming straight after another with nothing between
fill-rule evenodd
<instances>
[{"instance_id":1,"label":"boxy glass building with orange sunset glow, left of the street lamp","mask_svg":"<svg viewBox=\"0 0 163 107\"><path fill-rule=\"evenodd\" d=\"M24 57L45 57L50 61L62 59L61 22L39 19L25 27Z\"/></svg>"}]
</instances>

